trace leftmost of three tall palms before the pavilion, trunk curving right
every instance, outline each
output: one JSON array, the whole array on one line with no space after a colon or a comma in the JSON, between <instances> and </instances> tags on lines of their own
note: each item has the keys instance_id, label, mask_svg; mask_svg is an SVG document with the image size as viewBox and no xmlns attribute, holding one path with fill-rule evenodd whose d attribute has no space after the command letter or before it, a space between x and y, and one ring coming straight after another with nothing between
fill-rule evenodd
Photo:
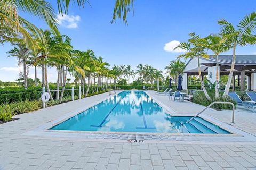
<instances>
[{"instance_id":1,"label":"leftmost of three tall palms before the pavilion, trunk curving right","mask_svg":"<svg viewBox=\"0 0 256 170\"><path fill-rule=\"evenodd\" d=\"M206 91L206 89L204 87L204 82L203 82L203 79L201 76L201 69L200 69L200 65L201 65L200 57L207 58L209 56L205 53L205 51L204 51L205 47L202 46L202 44L201 44L202 38L200 38L199 35L196 35L194 32L189 33L189 36L190 36L190 38L188 39L188 43L180 43L174 49L181 48L181 49L187 50L187 53L178 56L178 58L183 57L186 60L187 58L197 57L198 75L199 75L199 78L201 81L201 86L204 91L205 97L208 100L210 100L210 96L208 95L208 92Z\"/></svg>"}]
</instances>

